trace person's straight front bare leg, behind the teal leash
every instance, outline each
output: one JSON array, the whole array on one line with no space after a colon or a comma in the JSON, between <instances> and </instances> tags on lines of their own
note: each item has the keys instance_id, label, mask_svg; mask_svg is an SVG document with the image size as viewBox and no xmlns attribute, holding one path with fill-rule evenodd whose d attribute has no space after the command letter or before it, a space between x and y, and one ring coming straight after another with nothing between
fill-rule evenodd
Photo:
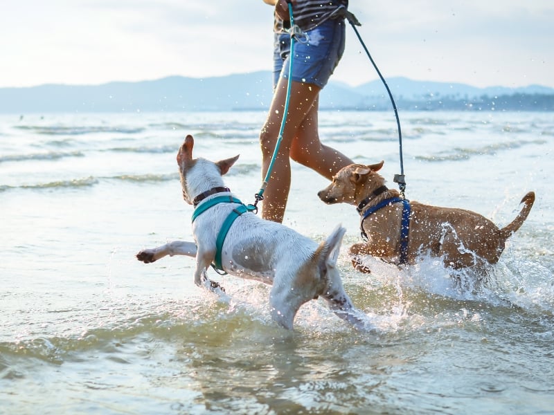
<instances>
[{"instance_id":1,"label":"person's straight front bare leg, behind the teal leash","mask_svg":"<svg viewBox=\"0 0 554 415\"><path fill-rule=\"evenodd\" d=\"M321 89L312 84L292 81L289 98L289 112L279 145L278 155L271 169L271 176L263 194L262 218L282 222L290 189L290 149L298 127L312 108L312 104ZM262 147L262 178L265 178L278 140L281 120L285 111L287 80L280 78L269 115L260 132Z\"/></svg>"}]
</instances>

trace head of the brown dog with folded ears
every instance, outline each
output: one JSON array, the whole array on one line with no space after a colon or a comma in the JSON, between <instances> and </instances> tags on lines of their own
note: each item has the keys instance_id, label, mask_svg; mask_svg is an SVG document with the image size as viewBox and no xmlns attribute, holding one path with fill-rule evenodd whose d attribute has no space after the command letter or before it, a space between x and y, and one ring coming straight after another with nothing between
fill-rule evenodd
<instances>
[{"instance_id":1,"label":"head of the brown dog with folded ears","mask_svg":"<svg viewBox=\"0 0 554 415\"><path fill-rule=\"evenodd\" d=\"M373 190L384 184L384 178L377 174L384 161L374 165L352 164L343 167L333 176L330 185L318 192L319 199L332 203L350 203L357 205Z\"/></svg>"}]
</instances>

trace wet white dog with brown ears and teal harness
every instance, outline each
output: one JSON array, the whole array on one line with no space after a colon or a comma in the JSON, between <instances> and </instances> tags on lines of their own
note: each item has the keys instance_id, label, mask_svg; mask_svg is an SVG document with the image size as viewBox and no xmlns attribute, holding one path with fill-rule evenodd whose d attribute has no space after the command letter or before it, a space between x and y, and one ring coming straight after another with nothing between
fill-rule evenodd
<instances>
[{"instance_id":1,"label":"wet white dog with brown ears and teal harness","mask_svg":"<svg viewBox=\"0 0 554 415\"><path fill-rule=\"evenodd\" d=\"M280 223L265 221L247 212L222 180L238 156L217 163L193 159L193 145L193 137L186 136L177 154L177 163L184 199L195 205L196 243L174 241L142 250L136 257L145 263L166 255L196 257L195 284L203 284L213 291L219 284L208 279L206 270L214 261L226 273L273 285L269 296L271 317L286 329L292 329L298 308L319 296L343 320L359 329L366 328L366 316L352 305L337 270L337 257L346 230L337 226L318 246ZM229 217L232 218L230 225L226 224Z\"/></svg>"}]
</instances>

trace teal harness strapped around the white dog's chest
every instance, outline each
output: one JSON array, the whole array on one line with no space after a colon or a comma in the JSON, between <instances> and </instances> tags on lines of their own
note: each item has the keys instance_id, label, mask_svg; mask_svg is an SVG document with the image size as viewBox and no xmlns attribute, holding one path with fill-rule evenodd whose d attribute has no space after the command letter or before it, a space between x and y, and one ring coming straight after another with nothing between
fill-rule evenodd
<instances>
[{"instance_id":1,"label":"teal harness strapped around the white dog's chest","mask_svg":"<svg viewBox=\"0 0 554 415\"><path fill-rule=\"evenodd\" d=\"M194 200L195 205L197 205L202 199L204 199L207 196L211 196L211 194L215 194L216 192L229 192L230 190L226 187L216 187L215 192L212 190L208 190L208 192L204 192L202 195L197 196ZM220 229L220 233L217 234L217 239L215 241L215 259L214 264L212 264L213 268L215 270L223 270L222 262L221 262L221 255L222 255L222 248L223 248L223 242L225 241L225 237L227 236L227 233L229 232L229 228L231 228L231 225L233 225L233 222L235 219L238 218L243 213L246 212L252 212L253 210L256 210L256 208L253 205L244 205L240 200L234 198L233 196L217 196L213 199L210 199L209 201L206 201L202 203L202 205L197 206L195 211L193 212L193 222L195 219L201 215L202 213L206 212L209 208L212 208L213 206L219 204L219 203L238 203L239 206L237 208L233 209L231 213L226 217L225 221L223 222L223 225Z\"/></svg>"}]
</instances>

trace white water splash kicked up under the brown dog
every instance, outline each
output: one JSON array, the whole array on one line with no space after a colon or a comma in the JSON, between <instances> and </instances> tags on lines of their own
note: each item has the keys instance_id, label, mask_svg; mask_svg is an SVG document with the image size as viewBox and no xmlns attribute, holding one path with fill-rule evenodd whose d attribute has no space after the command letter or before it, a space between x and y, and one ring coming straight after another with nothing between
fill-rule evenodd
<instances>
[{"instance_id":1,"label":"white water splash kicked up under the brown dog","mask_svg":"<svg viewBox=\"0 0 554 415\"><path fill-rule=\"evenodd\" d=\"M380 291L388 287L399 291L400 297L413 296L415 308L425 304L425 297L432 297L434 303L453 302L454 308L456 302L481 302L499 309L517 308L529 315L554 317L554 286L548 266L529 259L524 252L505 252L485 275L469 269L454 270L444 266L442 259L429 255L400 272L377 258L367 256L361 261L370 268L374 284L381 284Z\"/></svg>"}]
</instances>

